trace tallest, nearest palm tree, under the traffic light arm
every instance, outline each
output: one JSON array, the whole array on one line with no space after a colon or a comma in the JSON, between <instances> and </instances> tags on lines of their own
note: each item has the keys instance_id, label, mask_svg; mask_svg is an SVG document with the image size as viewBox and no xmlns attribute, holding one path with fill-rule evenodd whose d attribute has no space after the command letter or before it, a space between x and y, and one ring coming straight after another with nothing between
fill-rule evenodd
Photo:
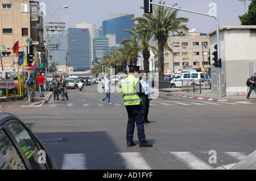
<instances>
[{"instance_id":1,"label":"tallest, nearest palm tree, under the traffic light arm","mask_svg":"<svg viewBox=\"0 0 256 181\"><path fill-rule=\"evenodd\" d=\"M159 4L162 1L159 1ZM174 6L176 6L175 4ZM168 47L167 40L171 33L178 33L180 31L188 32L188 28L185 26L188 19L183 17L177 17L178 10L168 9L163 6L153 6L154 12L151 14L143 14L143 17L133 18L139 22L139 31L152 32L155 40L158 44L158 72L159 80L164 78L164 48ZM168 47L168 49L171 49Z\"/></svg>"}]
</instances>

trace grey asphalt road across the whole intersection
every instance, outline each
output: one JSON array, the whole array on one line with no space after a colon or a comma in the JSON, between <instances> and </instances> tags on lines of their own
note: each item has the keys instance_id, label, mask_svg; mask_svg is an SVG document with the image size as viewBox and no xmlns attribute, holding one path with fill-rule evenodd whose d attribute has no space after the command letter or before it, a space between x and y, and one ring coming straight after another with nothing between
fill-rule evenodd
<instances>
[{"instance_id":1,"label":"grey asphalt road across the whole intersection","mask_svg":"<svg viewBox=\"0 0 256 181\"><path fill-rule=\"evenodd\" d=\"M159 95L145 133L152 148L126 146L127 112L118 87L112 105L100 85L68 90L69 100L38 107L1 108L20 117L42 140L60 169L214 169L256 149L255 103L219 103ZM114 89L114 87L112 87ZM101 92L99 92L99 91Z\"/></svg>"}]
</instances>

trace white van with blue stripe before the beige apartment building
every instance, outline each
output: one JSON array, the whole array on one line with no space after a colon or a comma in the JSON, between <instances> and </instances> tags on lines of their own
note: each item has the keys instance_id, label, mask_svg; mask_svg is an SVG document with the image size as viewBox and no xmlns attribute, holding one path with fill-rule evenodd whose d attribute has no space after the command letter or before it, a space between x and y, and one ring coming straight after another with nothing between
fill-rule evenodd
<instances>
[{"instance_id":1,"label":"white van with blue stripe before the beige apartment building","mask_svg":"<svg viewBox=\"0 0 256 181\"><path fill-rule=\"evenodd\" d=\"M181 73L178 74L174 79L171 80L171 87L180 87L182 86L182 81L201 81L209 82L209 77L204 71L195 72L195 73ZM192 85L193 82L191 82Z\"/></svg>"}]
</instances>

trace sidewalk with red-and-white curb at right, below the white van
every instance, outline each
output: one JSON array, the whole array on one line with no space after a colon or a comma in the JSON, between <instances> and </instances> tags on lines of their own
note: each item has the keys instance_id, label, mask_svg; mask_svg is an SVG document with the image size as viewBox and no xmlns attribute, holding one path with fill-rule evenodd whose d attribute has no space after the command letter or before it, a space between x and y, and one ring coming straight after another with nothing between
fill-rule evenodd
<instances>
[{"instance_id":1,"label":"sidewalk with red-and-white curb at right, below the white van","mask_svg":"<svg viewBox=\"0 0 256 181\"><path fill-rule=\"evenodd\" d=\"M159 94L171 95L171 96L180 96L183 98L189 99L201 99L201 100L210 100L210 101L222 101L222 102L251 102L256 103L256 96L251 92L250 99L246 99L246 95L241 96L220 96L218 94L213 94L212 90L202 90L200 92L186 92L182 91L180 88L167 88L159 89Z\"/></svg>"}]
</instances>

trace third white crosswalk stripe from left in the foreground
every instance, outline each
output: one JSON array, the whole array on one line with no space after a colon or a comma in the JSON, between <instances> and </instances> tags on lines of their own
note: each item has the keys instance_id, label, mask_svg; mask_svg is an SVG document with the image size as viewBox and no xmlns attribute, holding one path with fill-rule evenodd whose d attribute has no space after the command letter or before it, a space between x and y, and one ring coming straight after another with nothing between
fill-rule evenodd
<instances>
[{"instance_id":1,"label":"third white crosswalk stripe from left in the foreground","mask_svg":"<svg viewBox=\"0 0 256 181\"><path fill-rule=\"evenodd\" d=\"M174 155L177 159L179 159L182 162L185 162L189 167L195 170L213 170L214 168L204 161L202 161L200 158L197 158L195 155L193 155L190 152L170 152L172 155Z\"/></svg>"}]
</instances>

